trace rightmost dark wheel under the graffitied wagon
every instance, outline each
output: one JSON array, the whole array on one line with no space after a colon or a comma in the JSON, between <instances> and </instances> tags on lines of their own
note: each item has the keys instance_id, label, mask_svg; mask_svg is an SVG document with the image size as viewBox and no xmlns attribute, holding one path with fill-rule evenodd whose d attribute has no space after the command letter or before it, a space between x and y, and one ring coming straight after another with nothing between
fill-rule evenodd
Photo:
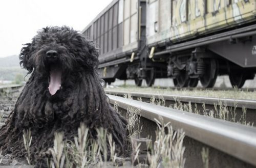
<instances>
[{"instance_id":1,"label":"rightmost dark wheel under the graffitied wagon","mask_svg":"<svg viewBox=\"0 0 256 168\"><path fill-rule=\"evenodd\" d=\"M237 86L238 88L242 88L244 86L246 78L244 76L243 71L242 72L230 72L229 80L230 80L230 83L233 88L235 86Z\"/></svg>"}]
</instances>

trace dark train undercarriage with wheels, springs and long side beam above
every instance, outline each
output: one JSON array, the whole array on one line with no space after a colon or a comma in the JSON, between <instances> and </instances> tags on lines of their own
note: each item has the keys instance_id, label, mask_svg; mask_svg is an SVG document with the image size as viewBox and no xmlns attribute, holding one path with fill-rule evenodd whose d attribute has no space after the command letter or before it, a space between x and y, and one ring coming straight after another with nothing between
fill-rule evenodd
<instances>
[{"instance_id":1,"label":"dark train undercarriage with wheels, springs and long side beam above","mask_svg":"<svg viewBox=\"0 0 256 168\"><path fill-rule=\"evenodd\" d=\"M238 33L239 32L239 33ZM214 87L219 75L228 75L233 87L243 87L256 72L256 32L246 28L172 45L148 46L146 57L127 66L127 78L147 86L155 78L173 78L175 87ZM155 53L152 53L152 50Z\"/></svg>"}]
</instances>

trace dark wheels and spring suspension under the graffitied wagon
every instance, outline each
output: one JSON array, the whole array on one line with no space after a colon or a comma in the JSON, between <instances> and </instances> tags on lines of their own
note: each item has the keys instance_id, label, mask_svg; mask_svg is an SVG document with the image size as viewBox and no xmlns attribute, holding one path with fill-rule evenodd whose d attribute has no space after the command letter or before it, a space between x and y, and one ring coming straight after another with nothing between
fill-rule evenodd
<instances>
[{"instance_id":1,"label":"dark wheels and spring suspension under the graffitied wagon","mask_svg":"<svg viewBox=\"0 0 256 168\"><path fill-rule=\"evenodd\" d=\"M228 75L233 87L243 87L247 79L254 78L255 69L242 68L219 55L196 48L187 56L174 56L169 59L167 76L173 78L175 87L212 88L217 76Z\"/></svg>"}]
</instances>

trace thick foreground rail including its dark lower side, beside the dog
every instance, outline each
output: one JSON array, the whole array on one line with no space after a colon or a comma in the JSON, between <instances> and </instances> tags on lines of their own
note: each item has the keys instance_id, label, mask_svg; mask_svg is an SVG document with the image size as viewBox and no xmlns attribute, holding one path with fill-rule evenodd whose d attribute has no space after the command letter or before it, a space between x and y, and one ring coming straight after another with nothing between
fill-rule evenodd
<instances>
[{"instance_id":1,"label":"thick foreground rail including its dark lower side, beside the dog","mask_svg":"<svg viewBox=\"0 0 256 168\"><path fill-rule=\"evenodd\" d=\"M106 93L110 92L106 91ZM110 103L118 104L120 111L124 113L131 106L141 109L142 137L151 135L154 141L156 130L154 119L158 119L159 116L163 118L164 123L171 122L175 130L182 128L186 135L183 143L186 148L185 167L203 167L202 147L209 149L209 167L256 166L256 128L254 127L120 96L108 95L108 97Z\"/></svg>"}]
</instances>

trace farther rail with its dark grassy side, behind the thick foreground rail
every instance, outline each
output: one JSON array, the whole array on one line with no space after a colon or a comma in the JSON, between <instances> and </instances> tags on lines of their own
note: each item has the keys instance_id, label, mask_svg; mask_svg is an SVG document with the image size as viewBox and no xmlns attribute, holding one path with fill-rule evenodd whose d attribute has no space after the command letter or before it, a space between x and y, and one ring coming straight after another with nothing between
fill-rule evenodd
<instances>
[{"instance_id":1,"label":"farther rail with its dark grassy side, behind the thick foreground rail","mask_svg":"<svg viewBox=\"0 0 256 168\"><path fill-rule=\"evenodd\" d=\"M209 115L210 111L221 113L221 110L226 111L226 117L233 118L233 121L239 121L241 117L244 117L247 123L256 123L256 101L255 100L243 100L243 99L231 99L231 98L210 98L202 96L183 96L183 95L171 95L171 94L152 94L152 93L140 93L140 92L124 92L105 90L106 94L116 95L123 97L124 95L131 96L134 100L141 98L143 102L150 103L154 97L155 102L164 101L165 106L174 107L191 104L191 109L197 109L201 115ZM236 106L236 109L234 109ZM244 109L243 109L244 108ZM246 115L244 111L246 109ZM195 112L195 111L194 111ZM227 114L228 113L228 114ZM244 115L244 116L243 116Z\"/></svg>"}]
</instances>

